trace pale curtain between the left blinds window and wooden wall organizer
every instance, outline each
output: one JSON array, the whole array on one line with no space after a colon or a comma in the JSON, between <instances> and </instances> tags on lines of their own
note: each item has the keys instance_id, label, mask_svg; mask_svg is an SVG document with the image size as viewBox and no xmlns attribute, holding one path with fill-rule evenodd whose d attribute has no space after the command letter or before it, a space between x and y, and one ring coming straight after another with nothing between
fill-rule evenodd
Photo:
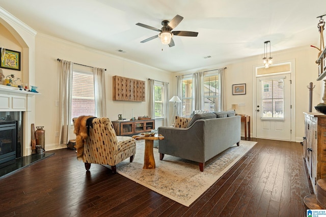
<instances>
[{"instance_id":1,"label":"pale curtain between the left blinds window and wooden wall organizer","mask_svg":"<svg viewBox=\"0 0 326 217\"><path fill-rule=\"evenodd\" d=\"M105 69L94 67L93 73L96 116L106 117Z\"/></svg>"}]
</instances>

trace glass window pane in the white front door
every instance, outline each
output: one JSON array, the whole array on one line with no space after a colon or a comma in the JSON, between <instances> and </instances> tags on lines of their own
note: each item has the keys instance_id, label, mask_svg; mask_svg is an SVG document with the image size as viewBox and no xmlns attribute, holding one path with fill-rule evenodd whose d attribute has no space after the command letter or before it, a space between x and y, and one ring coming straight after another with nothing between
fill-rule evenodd
<instances>
[{"instance_id":1,"label":"glass window pane in the white front door","mask_svg":"<svg viewBox=\"0 0 326 217\"><path fill-rule=\"evenodd\" d=\"M261 108L264 118L284 118L284 79L261 81Z\"/></svg>"}]
</instances>

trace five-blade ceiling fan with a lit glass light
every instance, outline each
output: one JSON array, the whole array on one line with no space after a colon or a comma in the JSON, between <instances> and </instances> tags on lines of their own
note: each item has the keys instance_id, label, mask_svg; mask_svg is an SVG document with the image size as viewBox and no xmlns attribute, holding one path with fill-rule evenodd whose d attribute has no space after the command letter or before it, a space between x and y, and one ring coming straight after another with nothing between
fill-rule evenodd
<instances>
[{"instance_id":1,"label":"five-blade ceiling fan with a lit glass light","mask_svg":"<svg viewBox=\"0 0 326 217\"><path fill-rule=\"evenodd\" d=\"M156 38L160 38L162 44L168 44L169 47L173 47L174 46L174 41L172 39L173 36L189 36L189 37L197 37L198 33L196 32L188 32L188 31L172 31L172 29L174 29L183 19L183 17L181 17L180 15L176 15L171 21L168 20L163 20L162 21L162 26L161 29L149 26L149 25L145 25L143 23L136 23L136 25L142 26L144 28L148 28L151 30L154 30L156 32L159 32L158 35L152 36L148 39L145 39L143 41L141 41L141 43L145 43L148 42L150 40L156 39Z\"/></svg>"}]
</instances>

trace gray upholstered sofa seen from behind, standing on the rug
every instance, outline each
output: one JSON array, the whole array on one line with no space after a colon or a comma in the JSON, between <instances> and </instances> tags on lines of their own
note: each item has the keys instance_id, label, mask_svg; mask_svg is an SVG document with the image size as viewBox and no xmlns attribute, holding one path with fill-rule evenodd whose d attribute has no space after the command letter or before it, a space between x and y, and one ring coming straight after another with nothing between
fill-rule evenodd
<instances>
[{"instance_id":1,"label":"gray upholstered sofa seen from behind, standing on the rug","mask_svg":"<svg viewBox=\"0 0 326 217\"><path fill-rule=\"evenodd\" d=\"M218 118L216 118L216 114ZM234 114L233 114L234 115ZM241 140L241 117L225 113L196 114L186 128L159 127L160 160L164 154L195 161L200 171L205 162Z\"/></svg>"}]
</instances>

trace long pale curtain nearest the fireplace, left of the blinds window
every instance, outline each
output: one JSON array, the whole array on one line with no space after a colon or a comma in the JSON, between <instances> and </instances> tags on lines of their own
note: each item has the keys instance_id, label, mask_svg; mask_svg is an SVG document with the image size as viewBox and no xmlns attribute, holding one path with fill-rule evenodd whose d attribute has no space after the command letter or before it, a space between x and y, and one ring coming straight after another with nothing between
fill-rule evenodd
<instances>
[{"instance_id":1,"label":"long pale curtain nearest the fireplace, left of the blinds window","mask_svg":"<svg viewBox=\"0 0 326 217\"><path fill-rule=\"evenodd\" d=\"M67 60L60 61L59 81L59 126L60 144L68 144L71 125L71 96L73 63Z\"/></svg>"}]
</instances>

